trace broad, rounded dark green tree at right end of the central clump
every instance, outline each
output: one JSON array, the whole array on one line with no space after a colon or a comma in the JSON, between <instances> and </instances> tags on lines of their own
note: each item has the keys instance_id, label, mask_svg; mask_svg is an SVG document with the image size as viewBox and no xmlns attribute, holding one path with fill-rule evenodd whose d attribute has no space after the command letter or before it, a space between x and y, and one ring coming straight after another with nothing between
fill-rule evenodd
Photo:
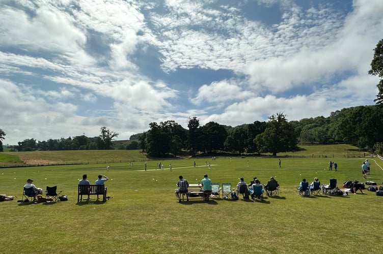
<instances>
[{"instance_id":1,"label":"broad, rounded dark green tree at right end of the central clump","mask_svg":"<svg viewBox=\"0 0 383 254\"><path fill-rule=\"evenodd\" d=\"M260 152L271 152L273 156L298 150L294 128L283 113L269 117L265 131L257 135L255 142Z\"/></svg>"}]
</instances>

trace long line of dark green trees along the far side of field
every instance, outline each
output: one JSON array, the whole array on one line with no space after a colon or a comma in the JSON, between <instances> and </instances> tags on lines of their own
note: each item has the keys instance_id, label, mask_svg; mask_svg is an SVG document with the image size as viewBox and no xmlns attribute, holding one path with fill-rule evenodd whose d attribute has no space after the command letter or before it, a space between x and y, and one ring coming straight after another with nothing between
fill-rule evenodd
<instances>
[{"instance_id":1,"label":"long line of dark green trees along the far side of field","mask_svg":"<svg viewBox=\"0 0 383 254\"><path fill-rule=\"evenodd\" d=\"M174 120L149 124L149 130L135 134L138 139L128 145L120 144L118 149L141 149L151 156L177 156L187 153L212 155L228 152L241 155L297 151L297 144L346 143L370 152L383 149L383 110L381 105L358 106L331 112L329 117L318 116L288 121L282 112L271 115L267 121L254 121L235 127L208 122L200 125L198 117L190 117L184 129ZM1 141L5 132L0 129ZM114 138L118 133L105 126L98 137L85 135L73 138L36 141L25 139L12 146L14 151L34 150L95 150L115 149Z\"/></svg>"}]
</instances>

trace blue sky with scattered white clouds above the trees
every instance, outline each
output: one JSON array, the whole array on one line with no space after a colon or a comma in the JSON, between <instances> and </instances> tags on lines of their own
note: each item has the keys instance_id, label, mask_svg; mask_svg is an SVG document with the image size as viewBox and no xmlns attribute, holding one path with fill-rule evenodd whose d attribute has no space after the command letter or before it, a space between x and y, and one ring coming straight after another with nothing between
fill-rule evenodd
<instances>
[{"instance_id":1,"label":"blue sky with scattered white clouds above the trees","mask_svg":"<svg viewBox=\"0 0 383 254\"><path fill-rule=\"evenodd\" d=\"M381 0L0 0L3 144L373 105Z\"/></svg>"}]
</instances>

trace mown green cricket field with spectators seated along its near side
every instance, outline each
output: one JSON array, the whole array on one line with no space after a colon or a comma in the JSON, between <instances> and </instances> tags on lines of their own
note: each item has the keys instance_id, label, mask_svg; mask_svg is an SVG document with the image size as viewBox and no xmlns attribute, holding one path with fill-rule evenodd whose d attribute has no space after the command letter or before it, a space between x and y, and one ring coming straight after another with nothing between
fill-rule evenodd
<instances>
[{"instance_id":1,"label":"mown green cricket field with spectators seated along its near side","mask_svg":"<svg viewBox=\"0 0 383 254\"><path fill-rule=\"evenodd\" d=\"M249 166L247 167L247 161ZM198 167L193 167L196 161ZM378 253L382 237L369 234L381 223L382 197L364 190L365 195L297 195L295 185L302 178L317 176L322 183L338 179L338 186L361 178L361 158L339 158L338 172L328 171L329 158L218 157L196 160L163 160L164 170L155 170L156 161L47 166L0 169L2 193L21 198L22 185L33 178L37 186L58 185L67 202L21 204L0 203L2 253ZM370 180L381 183L383 163L369 158ZM212 164L212 170L205 167ZM375 164L375 162L377 164ZM169 163L173 171L168 169ZM84 173L94 182L98 174L106 182L106 203L76 203L77 182ZM280 197L264 202L200 199L178 203L175 183L182 174L196 183L207 173L213 182L231 182L239 177L249 182L257 176L262 183L276 177ZM368 238L368 240L366 239Z\"/></svg>"}]
</instances>

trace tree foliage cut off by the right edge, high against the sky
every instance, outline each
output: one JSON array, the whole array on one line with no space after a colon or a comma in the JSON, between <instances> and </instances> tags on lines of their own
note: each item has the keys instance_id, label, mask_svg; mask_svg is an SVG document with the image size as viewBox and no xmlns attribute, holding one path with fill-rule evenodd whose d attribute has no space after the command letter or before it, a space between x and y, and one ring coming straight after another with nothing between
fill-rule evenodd
<instances>
[{"instance_id":1,"label":"tree foliage cut off by the right edge, high against the sky","mask_svg":"<svg viewBox=\"0 0 383 254\"><path fill-rule=\"evenodd\" d=\"M379 83L376 85L378 88L378 94L374 102L376 104L383 104L383 39L381 39L374 49L374 57L371 61L371 70L368 74L378 76L380 78Z\"/></svg>"}]
</instances>

